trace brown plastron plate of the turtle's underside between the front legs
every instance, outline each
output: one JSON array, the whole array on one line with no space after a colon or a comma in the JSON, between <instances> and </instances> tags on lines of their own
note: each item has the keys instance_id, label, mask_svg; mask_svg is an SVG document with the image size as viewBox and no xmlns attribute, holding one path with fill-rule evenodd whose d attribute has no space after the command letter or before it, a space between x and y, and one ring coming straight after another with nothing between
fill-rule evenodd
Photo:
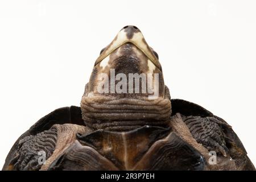
<instances>
[{"instance_id":1,"label":"brown plastron plate of the turtle's underside between the front legs","mask_svg":"<svg viewBox=\"0 0 256 182\"><path fill-rule=\"evenodd\" d=\"M81 135L50 170L203 170L201 154L171 131L143 126L129 132Z\"/></svg>"}]
</instances>

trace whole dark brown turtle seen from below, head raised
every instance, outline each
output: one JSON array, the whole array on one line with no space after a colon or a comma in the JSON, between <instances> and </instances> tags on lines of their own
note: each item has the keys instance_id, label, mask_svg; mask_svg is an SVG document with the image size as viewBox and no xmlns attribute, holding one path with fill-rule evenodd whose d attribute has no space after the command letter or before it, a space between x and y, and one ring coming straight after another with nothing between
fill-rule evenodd
<instances>
[{"instance_id":1,"label":"whole dark brown turtle seen from below, head raised","mask_svg":"<svg viewBox=\"0 0 256 182\"><path fill-rule=\"evenodd\" d=\"M16 140L3 170L255 167L224 119L171 98L158 53L138 27L125 26L100 51L80 107L61 107L39 119Z\"/></svg>"}]
</instances>

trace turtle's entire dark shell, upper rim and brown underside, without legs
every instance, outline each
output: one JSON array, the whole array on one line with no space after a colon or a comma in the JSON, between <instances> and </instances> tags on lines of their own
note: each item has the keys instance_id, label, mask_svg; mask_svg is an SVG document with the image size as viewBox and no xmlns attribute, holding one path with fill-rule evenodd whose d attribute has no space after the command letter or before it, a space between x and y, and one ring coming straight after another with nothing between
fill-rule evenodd
<instances>
[{"instance_id":1,"label":"turtle's entire dark shell, upper rim and brown underside, without legs","mask_svg":"<svg viewBox=\"0 0 256 182\"><path fill-rule=\"evenodd\" d=\"M171 102L171 117L180 113L185 117L191 115L202 118L212 117L222 123L226 123L223 119L216 117L199 105L184 100L171 100ZM41 133L44 134L45 131L50 134L56 134L52 126L55 124L64 126L67 123L72 124L69 127L75 127L75 125L85 126L81 117L80 107L71 106L57 109L36 122L15 142L6 158L3 170L40 169L40 166L31 167L29 162L33 160L32 158L28 159L27 162L30 165L27 164L27 166L25 165L26 167L20 167L22 163L17 164L17 156L22 147L22 142L30 140L31 137L40 137ZM225 126L228 126L228 124L226 123L222 127L222 132L226 135L226 147L236 164L236 169L254 170L255 168L247 157L247 152L242 142L231 127ZM67 131L63 130L62 132L65 133ZM68 136L68 133L65 134ZM49 138L51 137L52 140L58 140L57 136L50 136ZM57 142L55 144L57 145ZM24 151L26 150L25 146ZM55 145L51 150L51 152L56 150ZM226 158L221 156L220 160L220 162L225 162ZM181 139L172 128L144 126L128 132L104 130L91 132L86 130L83 134L77 134L77 139L65 151L58 153L55 158L51 159L49 168L47 166L46 169L204 170L209 169L209 166L204 155L192 147L191 144ZM226 170L230 168L222 165L219 169Z\"/></svg>"}]
</instances>

